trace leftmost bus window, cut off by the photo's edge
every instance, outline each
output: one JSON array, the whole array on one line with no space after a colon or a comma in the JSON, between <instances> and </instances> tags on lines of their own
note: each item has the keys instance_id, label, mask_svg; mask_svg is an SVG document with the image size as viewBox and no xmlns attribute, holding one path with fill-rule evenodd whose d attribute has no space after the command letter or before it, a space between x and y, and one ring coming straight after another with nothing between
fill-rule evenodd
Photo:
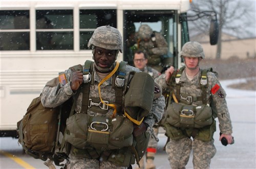
<instances>
[{"instance_id":1,"label":"leftmost bus window, cut off by the photo's edge","mask_svg":"<svg viewBox=\"0 0 256 169\"><path fill-rule=\"evenodd\" d=\"M0 11L1 51L30 50L29 10Z\"/></svg>"}]
</instances>

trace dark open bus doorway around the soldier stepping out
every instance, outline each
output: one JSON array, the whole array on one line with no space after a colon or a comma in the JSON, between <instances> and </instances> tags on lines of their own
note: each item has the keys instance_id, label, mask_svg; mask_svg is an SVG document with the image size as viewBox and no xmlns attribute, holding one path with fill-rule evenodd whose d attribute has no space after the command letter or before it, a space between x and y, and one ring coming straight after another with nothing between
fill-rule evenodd
<instances>
[{"instance_id":1,"label":"dark open bus doorway around the soldier stepping out","mask_svg":"<svg viewBox=\"0 0 256 169\"><path fill-rule=\"evenodd\" d=\"M174 43L177 33L175 11L172 10L125 10L124 16L124 60L133 65L133 45L137 43L136 32L141 25L148 25L153 31L163 35L168 43L168 54L161 57L162 67L172 65L174 55ZM131 39L132 38L132 39ZM177 39L177 38L176 38Z\"/></svg>"}]
</instances>

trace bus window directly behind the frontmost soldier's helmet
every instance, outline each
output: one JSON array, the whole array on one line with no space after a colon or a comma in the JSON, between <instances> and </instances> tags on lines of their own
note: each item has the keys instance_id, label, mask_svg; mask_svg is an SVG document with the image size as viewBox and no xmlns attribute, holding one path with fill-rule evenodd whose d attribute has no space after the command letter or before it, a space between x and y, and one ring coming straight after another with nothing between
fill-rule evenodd
<instances>
[{"instance_id":1,"label":"bus window directly behind the frontmost soldier's helmet","mask_svg":"<svg viewBox=\"0 0 256 169\"><path fill-rule=\"evenodd\" d=\"M80 50L88 50L88 41L97 27L109 25L117 28L116 9L81 9L79 18Z\"/></svg>"}]
</instances>

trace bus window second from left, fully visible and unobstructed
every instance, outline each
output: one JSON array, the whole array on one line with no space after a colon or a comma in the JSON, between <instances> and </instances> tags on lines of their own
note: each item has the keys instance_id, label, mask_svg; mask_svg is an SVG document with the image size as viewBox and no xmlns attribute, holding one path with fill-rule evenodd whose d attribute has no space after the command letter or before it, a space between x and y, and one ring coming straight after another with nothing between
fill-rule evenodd
<instances>
[{"instance_id":1,"label":"bus window second from left, fully visible and unobstructed","mask_svg":"<svg viewBox=\"0 0 256 169\"><path fill-rule=\"evenodd\" d=\"M36 50L73 50L73 10L36 10Z\"/></svg>"}]
</instances>

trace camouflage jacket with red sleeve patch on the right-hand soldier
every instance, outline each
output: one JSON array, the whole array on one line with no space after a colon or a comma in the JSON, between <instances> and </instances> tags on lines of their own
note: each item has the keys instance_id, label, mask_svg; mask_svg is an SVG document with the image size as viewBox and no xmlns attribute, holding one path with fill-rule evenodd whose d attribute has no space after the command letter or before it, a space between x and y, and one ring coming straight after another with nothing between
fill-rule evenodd
<instances>
[{"instance_id":1,"label":"camouflage jacket with red sleeve patch on the right-hand soldier","mask_svg":"<svg viewBox=\"0 0 256 169\"><path fill-rule=\"evenodd\" d=\"M192 96L193 98L201 96L201 88L200 88L200 77L201 72L193 78L193 80L189 81L185 75L185 71L182 72L180 77L181 88L180 94L183 96ZM208 79L208 88L207 92L207 104L211 105L213 110L217 111L217 117L219 119L219 127L220 131L223 134L232 134L232 125L231 119L227 108L226 103L226 92L221 87L221 84L214 73L207 72ZM163 91L169 86L165 82L165 74L161 75L159 78L155 80L163 89ZM173 89L174 93L176 93L176 88ZM202 105L202 101L193 101L193 105Z\"/></svg>"}]
</instances>

